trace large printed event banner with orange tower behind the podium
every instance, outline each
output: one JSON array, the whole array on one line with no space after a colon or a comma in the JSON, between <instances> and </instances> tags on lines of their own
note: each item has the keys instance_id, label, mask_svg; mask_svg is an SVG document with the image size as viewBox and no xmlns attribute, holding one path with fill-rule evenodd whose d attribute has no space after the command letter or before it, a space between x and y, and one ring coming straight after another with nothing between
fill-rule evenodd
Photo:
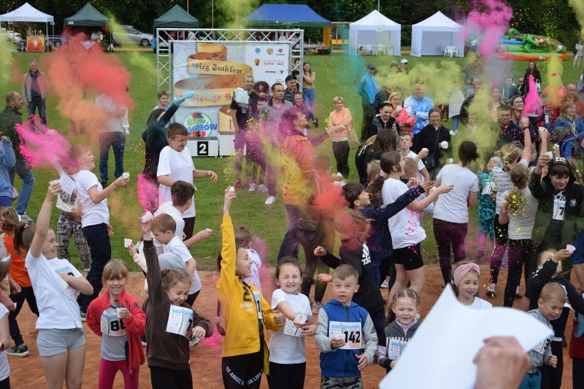
<instances>
[{"instance_id":1,"label":"large printed event banner with orange tower behind the podium","mask_svg":"<svg viewBox=\"0 0 584 389\"><path fill-rule=\"evenodd\" d=\"M254 81L284 84L289 75L290 47L270 42L174 42L174 95L194 92L180 105L175 122L182 123L189 136L217 137L234 131L228 110L233 92L242 86L243 76Z\"/></svg>"}]
</instances>

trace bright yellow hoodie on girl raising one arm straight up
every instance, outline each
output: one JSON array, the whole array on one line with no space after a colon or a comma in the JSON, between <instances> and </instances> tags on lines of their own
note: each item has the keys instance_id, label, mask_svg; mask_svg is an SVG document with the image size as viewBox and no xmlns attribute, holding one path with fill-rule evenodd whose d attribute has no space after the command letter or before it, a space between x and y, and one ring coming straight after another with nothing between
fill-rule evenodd
<instances>
[{"instance_id":1,"label":"bright yellow hoodie on girl raising one arm straight up","mask_svg":"<svg viewBox=\"0 0 584 389\"><path fill-rule=\"evenodd\" d=\"M263 372L269 371L268 349L265 330L278 331L276 316L270 305L253 285L245 284L235 275L235 235L231 216L223 216L221 224L221 275L217 281L217 297L225 309L226 336L223 342L223 357L257 353L264 350ZM261 309L259 309L261 307ZM262 315L262 340L258 311ZM261 343L260 343L261 342Z\"/></svg>"}]
</instances>

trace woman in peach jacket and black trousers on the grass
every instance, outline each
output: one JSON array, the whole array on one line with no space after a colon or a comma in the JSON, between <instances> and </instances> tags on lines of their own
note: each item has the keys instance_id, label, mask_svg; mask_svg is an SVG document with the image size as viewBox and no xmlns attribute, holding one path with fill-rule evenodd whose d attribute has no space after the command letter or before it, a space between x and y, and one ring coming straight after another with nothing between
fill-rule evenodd
<instances>
[{"instance_id":1,"label":"woman in peach jacket and black trousers on the grass","mask_svg":"<svg viewBox=\"0 0 584 389\"><path fill-rule=\"evenodd\" d=\"M349 132L353 131L351 111L345 108L345 100L340 97L332 99L334 111L328 115L328 129L335 131L332 136L332 153L337 160L337 172L344 178L349 177Z\"/></svg>"}]
</instances>

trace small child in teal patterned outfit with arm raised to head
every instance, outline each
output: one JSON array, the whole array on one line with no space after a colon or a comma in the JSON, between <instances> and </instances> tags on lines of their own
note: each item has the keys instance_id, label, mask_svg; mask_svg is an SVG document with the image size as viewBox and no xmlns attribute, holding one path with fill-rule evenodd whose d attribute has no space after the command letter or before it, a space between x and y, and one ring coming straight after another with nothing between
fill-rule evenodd
<instances>
[{"instance_id":1,"label":"small child in teal patterned outfit with arm raised to head","mask_svg":"<svg viewBox=\"0 0 584 389\"><path fill-rule=\"evenodd\" d=\"M476 260L480 260L485 255L485 243L487 243L487 234L491 242L495 238L493 221L495 218L495 201L496 192L493 182L493 168L502 167L503 162L498 157L492 157L487 164L487 173L478 172L478 241L476 244Z\"/></svg>"}]
</instances>

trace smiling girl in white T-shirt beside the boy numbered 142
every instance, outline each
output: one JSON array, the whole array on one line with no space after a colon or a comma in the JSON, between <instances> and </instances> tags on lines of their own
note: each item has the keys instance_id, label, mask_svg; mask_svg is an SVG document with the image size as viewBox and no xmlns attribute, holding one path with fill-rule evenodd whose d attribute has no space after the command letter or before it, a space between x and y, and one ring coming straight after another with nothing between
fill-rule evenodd
<instances>
[{"instance_id":1,"label":"smiling girl in white T-shirt beside the boy numbered 142","mask_svg":"<svg viewBox=\"0 0 584 389\"><path fill-rule=\"evenodd\" d=\"M286 316L286 325L273 332L269 340L270 389L302 389L306 374L306 351L304 337L313 336L316 323L311 312L308 297L298 293L302 281L302 271L298 260L284 257L276 266L276 285L273 291L271 309Z\"/></svg>"}]
</instances>

